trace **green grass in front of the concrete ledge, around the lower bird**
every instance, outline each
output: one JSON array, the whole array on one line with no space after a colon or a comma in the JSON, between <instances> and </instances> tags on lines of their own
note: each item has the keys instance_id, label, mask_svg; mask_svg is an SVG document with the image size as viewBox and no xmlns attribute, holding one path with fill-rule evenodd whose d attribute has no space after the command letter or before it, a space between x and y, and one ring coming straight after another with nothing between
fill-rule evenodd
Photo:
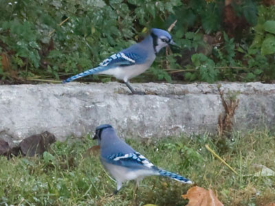
<instances>
[{"instance_id":1,"label":"green grass in front of the concrete ledge, around the lower bird","mask_svg":"<svg viewBox=\"0 0 275 206\"><path fill-rule=\"evenodd\" d=\"M268 130L232 133L232 139L208 135L166 139L126 139L159 168L182 174L198 186L217 192L224 205L267 205L275 202L275 176L253 176L255 164L275 171L275 134ZM98 156L83 158L95 145L89 137L56 142L43 157L0 157L0 205L186 205L189 185L159 176L147 177L133 198L134 183L116 196L115 182ZM234 174L206 150L208 144L229 163Z\"/></svg>"}]
</instances>

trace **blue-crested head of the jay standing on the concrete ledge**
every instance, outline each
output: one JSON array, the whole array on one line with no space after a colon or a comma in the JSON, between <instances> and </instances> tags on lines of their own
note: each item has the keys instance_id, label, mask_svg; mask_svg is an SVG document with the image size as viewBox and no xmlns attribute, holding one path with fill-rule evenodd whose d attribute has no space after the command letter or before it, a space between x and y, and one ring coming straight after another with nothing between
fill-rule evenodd
<instances>
[{"instance_id":1,"label":"blue-crested head of the jay standing on the concrete ledge","mask_svg":"<svg viewBox=\"0 0 275 206\"><path fill-rule=\"evenodd\" d=\"M175 45L171 35L164 30L153 28L151 29L151 36L153 38L153 47L155 53L158 53L159 50L163 47L166 47L168 45Z\"/></svg>"}]
</instances>

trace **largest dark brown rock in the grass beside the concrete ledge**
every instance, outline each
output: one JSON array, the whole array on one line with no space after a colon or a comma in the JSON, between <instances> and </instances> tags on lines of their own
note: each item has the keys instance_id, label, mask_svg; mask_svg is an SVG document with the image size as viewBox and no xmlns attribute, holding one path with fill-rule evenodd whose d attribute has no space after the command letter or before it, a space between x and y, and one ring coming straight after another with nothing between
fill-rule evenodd
<instances>
[{"instance_id":1,"label":"largest dark brown rock in the grass beside the concrete ledge","mask_svg":"<svg viewBox=\"0 0 275 206\"><path fill-rule=\"evenodd\" d=\"M42 155L54 141L56 141L54 135L49 132L44 132L23 139L19 146L22 155L33 157L34 155Z\"/></svg>"}]
</instances>

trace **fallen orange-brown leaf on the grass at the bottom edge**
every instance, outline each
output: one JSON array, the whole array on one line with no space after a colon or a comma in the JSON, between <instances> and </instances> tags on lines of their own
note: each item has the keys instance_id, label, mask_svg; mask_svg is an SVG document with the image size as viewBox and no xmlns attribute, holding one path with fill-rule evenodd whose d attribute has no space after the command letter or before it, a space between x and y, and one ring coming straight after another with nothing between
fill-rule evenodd
<instances>
[{"instance_id":1,"label":"fallen orange-brown leaf on the grass at the bottom edge","mask_svg":"<svg viewBox=\"0 0 275 206\"><path fill-rule=\"evenodd\" d=\"M212 190L205 190L202 187L191 187L187 194L181 196L189 199L186 206L223 206Z\"/></svg>"}]
</instances>

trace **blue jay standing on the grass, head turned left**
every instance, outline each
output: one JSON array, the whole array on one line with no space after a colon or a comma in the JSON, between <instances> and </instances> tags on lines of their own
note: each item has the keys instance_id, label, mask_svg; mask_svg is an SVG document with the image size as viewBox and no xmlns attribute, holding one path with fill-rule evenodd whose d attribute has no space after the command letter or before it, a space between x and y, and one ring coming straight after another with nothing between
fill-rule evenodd
<instances>
[{"instance_id":1,"label":"blue jay standing on the grass, head turned left","mask_svg":"<svg viewBox=\"0 0 275 206\"><path fill-rule=\"evenodd\" d=\"M131 146L122 141L109 124L102 124L96 128L94 139L98 139L100 145L100 161L104 168L113 176L117 183L115 194L122 187L124 181L135 180L138 182L145 176L168 176L181 183L192 182L179 174L160 170L148 161L139 152L135 152Z\"/></svg>"}]
</instances>

